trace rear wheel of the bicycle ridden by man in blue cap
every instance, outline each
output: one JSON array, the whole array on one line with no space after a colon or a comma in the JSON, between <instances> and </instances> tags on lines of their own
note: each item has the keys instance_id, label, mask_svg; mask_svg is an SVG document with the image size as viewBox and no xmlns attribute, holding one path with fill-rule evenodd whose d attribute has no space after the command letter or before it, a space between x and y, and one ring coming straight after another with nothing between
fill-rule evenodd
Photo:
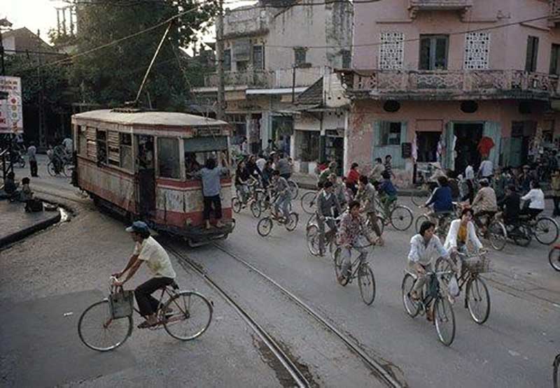
<instances>
[{"instance_id":1,"label":"rear wheel of the bicycle ridden by man in blue cap","mask_svg":"<svg viewBox=\"0 0 560 388\"><path fill-rule=\"evenodd\" d=\"M162 311L165 314L163 327L169 336L182 341L194 340L200 337L210 326L212 321L211 303L198 292L181 291L172 296Z\"/></svg>"}]
</instances>

